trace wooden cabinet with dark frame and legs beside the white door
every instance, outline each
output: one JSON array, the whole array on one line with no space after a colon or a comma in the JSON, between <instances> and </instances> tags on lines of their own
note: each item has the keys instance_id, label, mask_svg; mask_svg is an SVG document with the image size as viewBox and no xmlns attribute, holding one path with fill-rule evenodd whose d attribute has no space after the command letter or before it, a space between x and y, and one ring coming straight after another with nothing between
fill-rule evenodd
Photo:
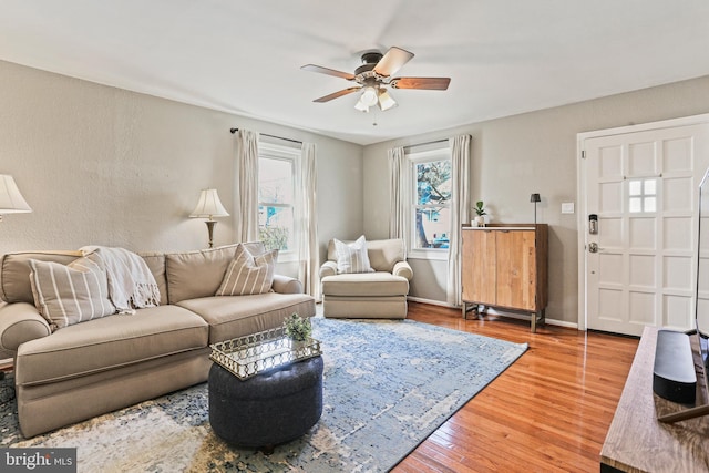
<instances>
[{"instance_id":1,"label":"wooden cabinet with dark frame and legs beside the white door","mask_svg":"<svg viewBox=\"0 0 709 473\"><path fill-rule=\"evenodd\" d=\"M467 304L522 310L536 331L547 304L547 225L463 227L462 235L463 317Z\"/></svg>"}]
</instances>

